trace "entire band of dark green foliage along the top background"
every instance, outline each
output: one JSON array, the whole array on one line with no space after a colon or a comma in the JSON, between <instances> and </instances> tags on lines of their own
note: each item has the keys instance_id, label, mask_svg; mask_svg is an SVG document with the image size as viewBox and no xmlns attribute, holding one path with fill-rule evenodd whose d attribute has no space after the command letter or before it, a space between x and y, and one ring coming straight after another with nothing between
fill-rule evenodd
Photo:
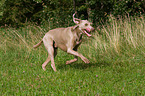
<instances>
[{"instance_id":1,"label":"entire band of dark green foliage along the top background","mask_svg":"<svg viewBox=\"0 0 145 96\"><path fill-rule=\"evenodd\" d=\"M72 14L89 19L95 25L108 20L110 14L118 17L140 15L145 9L143 0L2 0L0 24L23 26L27 22L51 25L51 28L73 25Z\"/></svg>"}]
</instances>

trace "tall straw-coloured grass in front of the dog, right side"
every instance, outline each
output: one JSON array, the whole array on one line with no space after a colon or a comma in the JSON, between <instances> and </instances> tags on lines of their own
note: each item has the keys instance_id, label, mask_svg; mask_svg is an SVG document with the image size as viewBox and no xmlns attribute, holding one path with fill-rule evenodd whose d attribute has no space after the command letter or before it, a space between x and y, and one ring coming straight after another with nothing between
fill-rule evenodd
<instances>
[{"instance_id":1,"label":"tall straw-coloured grass in front of the dog, right side","mask_svg":"<svg viewBox=\"0 0 145 96\"><path fill-rule=\"evenodd\" d=\"M110 17L107 25L97 29L93 40L88 43L92 49L104 55L137 54L145 57L145 20L143 17L116 19Z\"/></svg>"}]
</instances>

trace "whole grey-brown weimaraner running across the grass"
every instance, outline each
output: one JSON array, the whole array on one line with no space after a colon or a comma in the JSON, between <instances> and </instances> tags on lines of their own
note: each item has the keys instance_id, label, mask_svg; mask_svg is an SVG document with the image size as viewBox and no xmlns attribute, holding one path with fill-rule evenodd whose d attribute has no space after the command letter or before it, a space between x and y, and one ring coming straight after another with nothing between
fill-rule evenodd
<instances>
[{"instance_id":1,"label":"whole grey-brown weimaraner running across the grass","mask_svg":"<svg viewBox=\"0 0 145 96\"><path fill-rule=\"evenodd\" d=\"M33 46L34 48L37 48L41 45L42 42L44 42L44 46L48 51L48 58L42 64L42 68L44 71L46 70L45 66L50 60L51 67L54 71L56 71L54 57L57 54L58 47L63 51L74 55L74 59L66 61L66 64L70 64L72 62L77 61L77 57L80 57L85 63L90 62L82 54L77 52L77 48L82 42L82 35L86 34L88 37L90 37L91 35L89 33L93 31L94 28L91 26L92 23L90 23L89 21L75 18L75 14L76 13L73 14L73 21L74 23L76 23L76 26L67 28L56 28L50 30L45 34L43 39L38 44Z\"/></svg>"}]
</instances>

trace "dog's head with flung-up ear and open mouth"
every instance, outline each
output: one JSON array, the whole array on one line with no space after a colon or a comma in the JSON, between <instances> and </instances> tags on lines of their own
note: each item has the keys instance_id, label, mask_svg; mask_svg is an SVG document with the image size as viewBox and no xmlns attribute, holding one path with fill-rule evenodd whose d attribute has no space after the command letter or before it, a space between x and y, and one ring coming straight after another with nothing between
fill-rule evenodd
<instances>
[{"instance_id":1,"label":"dog's head with flung-up ear and open mouth","mask_svg":"<svg viewBox=\"0 0 145 96\"><path fill-rule=\"evenodd\" d=\"M87 36L90 37L91 35L90 35L89 33L90 33L91 31L94 30L94 28L91 26L92 23L90 23L88 20L80 20L80 19L78 19L78 18L75 18L75 17L74 17L75 14L76 14L76 12L73 14L73 21L74 21L74 23L76 23L77 25L76 25L73 29L76 29L76 28L79 27L79 29L80 29L83 33L85 33Z\"/></svg>"}]
</instances>

